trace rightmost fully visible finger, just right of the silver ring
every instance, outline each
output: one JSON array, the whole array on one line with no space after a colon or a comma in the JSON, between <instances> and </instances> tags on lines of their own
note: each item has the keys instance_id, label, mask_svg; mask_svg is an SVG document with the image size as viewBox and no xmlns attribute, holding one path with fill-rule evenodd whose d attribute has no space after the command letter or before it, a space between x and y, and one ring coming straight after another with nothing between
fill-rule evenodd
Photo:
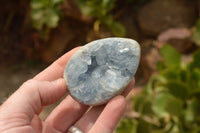
<instances>
[{"instance_id":1,"label":"rightmost fully visible finger, just right of the silver ring","mask_svg":"<svg viewBox=\"0 0 200 133\"><path fill-rule=\"evenodd\" d=\"M123 96L113 98L105 107L89 133L112 133L126 109Z\"/></svg>"}]
</instances>

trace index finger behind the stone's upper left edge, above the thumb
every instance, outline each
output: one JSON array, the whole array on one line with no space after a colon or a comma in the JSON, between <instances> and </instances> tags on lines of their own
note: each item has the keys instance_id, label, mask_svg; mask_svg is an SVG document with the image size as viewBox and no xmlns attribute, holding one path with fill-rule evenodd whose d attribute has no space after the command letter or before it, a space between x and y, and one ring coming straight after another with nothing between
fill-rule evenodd
<instances>
[{"instance_id":1,"label":"index finger behind the stone's upper left edge, above the thumb","mask_svg":"<svg viewBox=\"0 0 200 133\"><path fill-rule=\"evenodd\" d=\"M80 47L74 48L71 51L64 54L63 56L61 56L58 60L53 62L49 67L47 67L45 70L36 75L34 79L41 81L44 80L53 81L58 78L61 78L63 76L63 72L67 62L79 48Z\"/></svg>"}]
</instances>

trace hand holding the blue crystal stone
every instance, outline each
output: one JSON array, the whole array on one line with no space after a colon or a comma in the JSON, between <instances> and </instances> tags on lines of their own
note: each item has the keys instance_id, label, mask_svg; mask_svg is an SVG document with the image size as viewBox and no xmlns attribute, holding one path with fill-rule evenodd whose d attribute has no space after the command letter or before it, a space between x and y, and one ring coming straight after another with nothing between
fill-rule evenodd
<instances>
[{"instance_id":1,"label":"hand holding the blue crystal stone","mask_svg":"<svg viewBox=\"0 0 200 133\"><path fill-rule=\"evenodd\" d=\"M67 96L45 120L39 118L43 106L58 101L67 91L62 75L75 48L63 55L36 77L25 82L0 106L1 133L65 133L74 125L85 133L112 133L122 117L126 96L134 79L122 95L107 105L92 107Z\"/></svg>"}]
</instances>

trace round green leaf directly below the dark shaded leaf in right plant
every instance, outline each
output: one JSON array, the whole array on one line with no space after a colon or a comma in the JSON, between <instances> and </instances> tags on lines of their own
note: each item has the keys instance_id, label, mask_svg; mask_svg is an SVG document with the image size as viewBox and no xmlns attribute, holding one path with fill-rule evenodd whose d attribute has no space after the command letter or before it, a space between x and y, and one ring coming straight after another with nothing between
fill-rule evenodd
<instances>
[{"instance_id":1,"label":"round green leaf directly below the dark shaded leaf in right plant","mask_svg":"<svg viewBox=\"0 0 200 133\"><path fill-rule=\"evenodd\" d=\"M183 102L178 98L167 100L165 110L173 116L180 116L183 110Z\"/></svg>"}]
</instances>

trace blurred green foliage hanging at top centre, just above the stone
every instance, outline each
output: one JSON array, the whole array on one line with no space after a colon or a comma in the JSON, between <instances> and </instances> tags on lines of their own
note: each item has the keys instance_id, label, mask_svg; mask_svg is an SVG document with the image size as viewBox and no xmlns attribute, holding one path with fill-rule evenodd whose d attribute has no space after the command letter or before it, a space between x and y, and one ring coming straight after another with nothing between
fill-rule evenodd
<instances>
[{"instance_id":1,"label":"blurred green foliage hanging at top centre, just above the stone","mask_svg":"<svg viewBox=\"0 0 200 133\"><path fill-rule=\"evenodd\" d=\"M124 27L114 21L111 14L112 9L115 7L116 0L75 0L81 12L90 17L96 18L94 28L99 29L101 23L108 26L112 33L116 36L124 36Z\"/></svg>"}]
</instances>

